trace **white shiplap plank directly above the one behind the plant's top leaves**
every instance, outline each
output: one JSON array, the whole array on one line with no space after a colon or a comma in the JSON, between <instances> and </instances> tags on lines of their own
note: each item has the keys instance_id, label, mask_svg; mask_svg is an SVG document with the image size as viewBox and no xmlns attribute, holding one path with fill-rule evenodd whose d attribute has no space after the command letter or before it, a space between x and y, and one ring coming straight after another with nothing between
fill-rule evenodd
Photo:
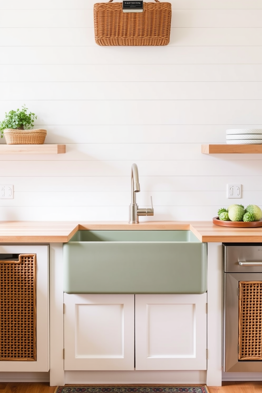
<instances>
[{"instance_id":1,"label":"white shiplap plank directly above the one behind the plant's top leaves","mask_svg":"<svg viewBox=\"0 0 262 393\"><path fill-rule=\"evenodd\" d=\"M0 100L262 99L260 82L5 82Z\"/></svg>"}]
</instances>

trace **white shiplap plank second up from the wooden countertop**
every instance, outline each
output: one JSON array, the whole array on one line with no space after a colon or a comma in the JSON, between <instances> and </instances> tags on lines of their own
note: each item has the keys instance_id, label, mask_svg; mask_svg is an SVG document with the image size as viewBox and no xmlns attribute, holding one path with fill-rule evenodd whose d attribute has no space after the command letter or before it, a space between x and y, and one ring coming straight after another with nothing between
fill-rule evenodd
<instances>
[{"instance_id":1,"label":"white shiplap plank second up from the wooden countertop","mask_svg":"<svg viewBox=\"0 0 262 393\"><path fill-rule=\"evenodd\" d=\"M243 206L261 203L261 191L243 192L241 203ZM214 206L227 207L235 200L226 198L225 191L140 191L136 195L139 207L150 207L150 196L154 209L158 206ZM258 202L259 201L259 202ZM14 199L4 199L2 206L126 206L130 204L130 191L108 191L106 198L104 191L63 191L63 192L17 192ZM257 202L257 203L255 203ZM214 216L217 211L214 211Z\"/></svg>"}]
</instances>

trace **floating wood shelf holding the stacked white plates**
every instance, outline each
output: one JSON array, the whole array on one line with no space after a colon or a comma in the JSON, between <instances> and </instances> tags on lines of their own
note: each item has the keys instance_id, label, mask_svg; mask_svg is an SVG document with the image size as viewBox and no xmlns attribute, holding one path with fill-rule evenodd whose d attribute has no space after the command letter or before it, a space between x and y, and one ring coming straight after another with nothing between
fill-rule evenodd
<instances>
[{"instance_id":1,"label":"floating wood shelf holding the stacked white plates","mask_svg":"<svg viewBox=\"0 0 262 393\"><path fill-rule=\"evenodd\" d=\"M262 154L261 145L201 145L203 154L228 154L228 153L246 153Z\"/></svg>"}]
</instances>

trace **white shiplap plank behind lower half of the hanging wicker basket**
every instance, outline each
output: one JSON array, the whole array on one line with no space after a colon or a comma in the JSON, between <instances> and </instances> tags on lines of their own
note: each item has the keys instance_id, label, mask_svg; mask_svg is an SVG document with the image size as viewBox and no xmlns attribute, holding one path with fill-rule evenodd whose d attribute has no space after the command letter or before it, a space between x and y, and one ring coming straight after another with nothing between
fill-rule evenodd
<instances>
[{"instance_id":1,"label":"white shiplap plank behind lower half of the hanging wicker basket","mask_svg":"<svg viewBox=\"0 0 262 393\"><path fill-rule=\"evenodd\" d=\"M262 45L262 28L171 28L170 46ZM96 46L93 28L0 28L0 46ZM132 50L132 47L130 48Z\"/></svg>"}]
</instances>

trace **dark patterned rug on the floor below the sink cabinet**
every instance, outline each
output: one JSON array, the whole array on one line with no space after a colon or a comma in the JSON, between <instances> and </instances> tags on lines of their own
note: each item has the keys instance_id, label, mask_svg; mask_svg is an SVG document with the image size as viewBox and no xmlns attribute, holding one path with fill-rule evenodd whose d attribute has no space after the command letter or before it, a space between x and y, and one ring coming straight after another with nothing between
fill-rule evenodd
<instances>
[{"instance_id":1,"label":"dark patterned rug on the floor below the sink cabinet","mask_svg":"<svg viewBox=\"0 0 262 393\"><path fill-rule=\"evenodd\" d=\"M209 393L207 386L58 386L55 393Z\"/></svg>"}]
</instances>

